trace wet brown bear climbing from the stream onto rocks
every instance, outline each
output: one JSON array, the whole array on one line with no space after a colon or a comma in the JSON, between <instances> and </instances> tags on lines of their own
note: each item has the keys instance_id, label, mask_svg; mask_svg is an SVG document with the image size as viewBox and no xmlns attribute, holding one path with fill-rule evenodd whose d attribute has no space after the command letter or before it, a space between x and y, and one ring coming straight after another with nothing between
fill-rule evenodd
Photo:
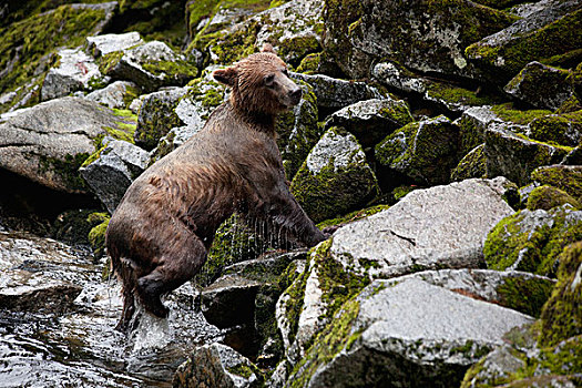
<instances>
[{"instance_id":1,"label":"wet brown bear climbing from the stream onto rocks","mask_svg":"<svg viewBox=\"0 0 582 388\"><path fill-rule=\"evenodd\" d=\"M135 296L149 313L167 316L161 295L201 269L234 212L308 247L325 239L290 194L275 141L275 115L302 96L285 62L266 45L213 76L231 88L228 101L133 182L109 224L108 253L123 286L120 330L129 329Z\"/></svg>"}]
</instances>

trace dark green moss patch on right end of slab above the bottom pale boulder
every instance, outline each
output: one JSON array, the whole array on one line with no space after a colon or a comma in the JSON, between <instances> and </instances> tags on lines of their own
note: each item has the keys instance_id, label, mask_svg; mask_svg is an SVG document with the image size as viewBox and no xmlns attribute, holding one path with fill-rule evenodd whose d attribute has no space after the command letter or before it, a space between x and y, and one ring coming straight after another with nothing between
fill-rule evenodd
<instances>
[{"instance_id":1,"label":"dark green moss patch on right end of slab above the bottom pale boulder","mask_svg":"<svg viewBox=\"0 0 582 388\"><path fill-rule=\"evenodd\" d=\"M502 306L539 317L553 286L544 278L507 277L496 290Z\"/></svg>"}]
</instances>

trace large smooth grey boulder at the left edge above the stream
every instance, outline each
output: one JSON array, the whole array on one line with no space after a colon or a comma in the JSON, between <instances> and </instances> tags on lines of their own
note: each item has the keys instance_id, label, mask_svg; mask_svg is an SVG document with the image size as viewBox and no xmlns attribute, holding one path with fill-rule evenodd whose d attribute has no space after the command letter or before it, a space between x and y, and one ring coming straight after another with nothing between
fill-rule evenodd
<instances>
[{"instance_id":1,"label":"large smooth grey boulder at the left edge above the stream","mask_svg":"<svg viewBox=\"0 0 582 388\"><path fill-rule=\"evenodd\" d=\"M48 101L0 124L0 166L50 188L85 192L78 169L120 119L78 98Z\"/></svg>"}]
</instances>

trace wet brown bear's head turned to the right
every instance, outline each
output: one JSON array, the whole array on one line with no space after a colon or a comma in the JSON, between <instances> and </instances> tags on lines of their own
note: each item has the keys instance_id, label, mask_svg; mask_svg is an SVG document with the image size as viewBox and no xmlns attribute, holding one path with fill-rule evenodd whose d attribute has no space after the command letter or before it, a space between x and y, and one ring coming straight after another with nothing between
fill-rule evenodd
<instances>
[{"instance_id":1,"label":"wet brown bear's head turned to the right","mask_svg":"<svg viewBox=\"0 0 582 388\"><path fill-rule=\"evenodd\" d=\"M289 79L287 65L270 44L212 75L232 89L233 106L252 114L275 114L297 105L302 99L302 89Z\"/></svg>"}]
</instances>

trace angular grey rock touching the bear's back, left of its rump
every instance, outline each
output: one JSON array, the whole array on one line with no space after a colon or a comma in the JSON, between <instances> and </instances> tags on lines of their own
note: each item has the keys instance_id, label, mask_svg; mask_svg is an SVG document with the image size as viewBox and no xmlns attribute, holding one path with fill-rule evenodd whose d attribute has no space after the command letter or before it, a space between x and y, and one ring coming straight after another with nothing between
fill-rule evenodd
<instances>
[{"instance_id":1,"label":"angular grey rock touching the bear's back, left of its rump","mask_svg":"<svg viewBox=\"0 0 582 388\"><path fill-rule=\"evenodd\" d=\"M81 167L93 193L113 214L131 183L147 167L150 154L131 143L113 140L99 159Z\"/></svg>"}]
</instances>

